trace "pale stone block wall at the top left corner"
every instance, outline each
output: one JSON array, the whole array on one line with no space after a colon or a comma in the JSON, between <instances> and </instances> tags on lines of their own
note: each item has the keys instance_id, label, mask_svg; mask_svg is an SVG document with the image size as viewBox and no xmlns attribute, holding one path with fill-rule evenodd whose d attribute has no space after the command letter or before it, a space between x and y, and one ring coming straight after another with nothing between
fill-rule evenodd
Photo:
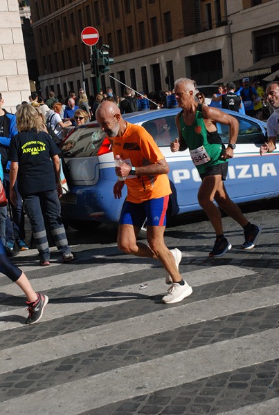
<instances>
[{"instance_id":1,"label":"pale stone block wall at the top left corner","mask_svg":"<svg viewBox=\"0 0 279 415\"><path fill-rule=\"evenodd\" d=\"M0 92L7 111L28 101L30 85L17 0L0 1Z\"/></svg>"}]
</instances>

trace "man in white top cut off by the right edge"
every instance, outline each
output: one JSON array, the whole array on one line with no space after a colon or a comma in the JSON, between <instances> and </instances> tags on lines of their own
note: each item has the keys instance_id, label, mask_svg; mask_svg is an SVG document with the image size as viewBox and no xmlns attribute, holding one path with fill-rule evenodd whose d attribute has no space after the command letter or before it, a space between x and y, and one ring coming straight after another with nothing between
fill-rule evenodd
<instances>
[{"instance_id":1,"label":"man in white top cut off by the right edge","mask_svg":"<svg viewBox=\"0 0 279 415\"><path fill-rule=\"evenodd\" d=\"M272 81L267 85L267 100L273 108L273 113L267 119L267 142L260 147L260 155L271 153L276 149L276 137L279 134L279 82Z\"/></svg>"}]
</instances>

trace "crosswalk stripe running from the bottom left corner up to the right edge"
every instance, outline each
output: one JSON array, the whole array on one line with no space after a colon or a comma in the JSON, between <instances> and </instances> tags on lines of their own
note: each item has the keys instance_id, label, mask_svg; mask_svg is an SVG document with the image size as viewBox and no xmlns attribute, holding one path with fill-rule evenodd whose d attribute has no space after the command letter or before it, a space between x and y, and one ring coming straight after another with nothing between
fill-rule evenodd
<instances>
[{"instance_id":1,"label":"crosswalk stripe running from the bottom left corner up to the right edge","mask_svg":"<svg viewBox=\"0 0 279 415\"><path fill-rule=\"evenodd\" d=\"M208 358L210 356L210 358ZM278 329L129 365L0 403L0 413L76 415L143 394L279 358ZM73 399L73 396L76 398Z\"/></svg>"}]
</instances>

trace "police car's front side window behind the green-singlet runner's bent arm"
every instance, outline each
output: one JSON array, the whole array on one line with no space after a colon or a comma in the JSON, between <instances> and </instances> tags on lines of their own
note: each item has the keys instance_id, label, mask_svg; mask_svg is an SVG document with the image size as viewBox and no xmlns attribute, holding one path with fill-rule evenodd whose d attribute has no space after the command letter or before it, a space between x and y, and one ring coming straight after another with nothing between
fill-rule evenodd
<instances>
[{"instance_id":1,"label":"police car's front side window behind the green-singlet runner's bent arm","mask_svg":"<svg viewBox=\"0 0 279 415\"><path fill-rule=\"evenodd\" d=\"M264 133L257 122L245 120L244 118L235 117L239 122L237 144L262 144L265 141ZM224 144L228 144L228 125L217 122L217 130Z\"/></svg>"}]
</instances>

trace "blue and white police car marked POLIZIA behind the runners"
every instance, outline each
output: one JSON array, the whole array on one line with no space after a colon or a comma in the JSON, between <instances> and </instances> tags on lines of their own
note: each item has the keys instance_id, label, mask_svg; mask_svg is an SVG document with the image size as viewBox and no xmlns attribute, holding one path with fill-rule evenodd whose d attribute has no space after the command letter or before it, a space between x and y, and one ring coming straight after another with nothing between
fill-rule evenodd
<instances>
[{"instance_id":1,"label":"blue and white police car marked POLIZIA behind the runners","mask_svg":"<svg viewBox=\"0 0 279 415\"><path fill-rule=\"evenodd\" d=\"M145 127L168 161L172 187L169 216L201 209L197 201L200 178L189 151L170 151L170 142L177 138L175 116L179 111L179 108L147 110L123 116L128 122ZM278 196L279 151L264 156L259 152L260 145L267 140L265 123L233 111L226 112L239 122L234 157L228 162L229 196L235 203ZM224 144L228 144L228 126L217 124L217 129ZM61 199L66 222L73 228L87 230L102 222L118 222L127 190L124 186L122 198L114 199L114 155L98 124L93 122L75 129L66 138L63 152L69 187Z\"/></svg>"}]
</instances>

